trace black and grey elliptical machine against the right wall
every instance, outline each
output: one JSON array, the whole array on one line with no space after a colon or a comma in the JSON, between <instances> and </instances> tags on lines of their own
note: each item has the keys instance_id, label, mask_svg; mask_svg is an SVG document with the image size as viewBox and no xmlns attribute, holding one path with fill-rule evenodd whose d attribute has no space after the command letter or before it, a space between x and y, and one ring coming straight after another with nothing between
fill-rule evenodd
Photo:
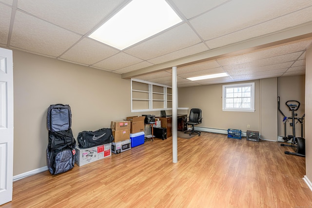
<instances>
[{"instance_id":1,"label":"black and grey elliptical machine against the right wall","mask_svg":"<svg viewBox=\"0 0 312 208\"><path fill-rule=\"evenodd\" d=\"M286 146L286 147L292 147L294 148L295 152L291 151L285 151L285 154L292 154L292 155L297 155L301 157L305 157L306 151L305 151L305 139L303 138L303 119L305 114L303 114L300 118L295 117L297 116L297 113L294 113L297 111L300 107L300 102L296 100L288 100L285 104L289 108L290 111L292 111L292 117L286 117L285 114L280 110L279 108L279 96L277 97L277 103L278 103L278 111L284 116L283 122L284 122L284 128L285 128L285 136L283 137L283 140L285 142L288 142L289 140L292 139L292 144L281 144L281 146ZM292 126L292 135L286 136L286 122L288 119L292 119L292 123L290 125ZM300 123L301 125L301 137L296 137L296 132L295 132L295 120Z\"/></svg>"}]
</instances>

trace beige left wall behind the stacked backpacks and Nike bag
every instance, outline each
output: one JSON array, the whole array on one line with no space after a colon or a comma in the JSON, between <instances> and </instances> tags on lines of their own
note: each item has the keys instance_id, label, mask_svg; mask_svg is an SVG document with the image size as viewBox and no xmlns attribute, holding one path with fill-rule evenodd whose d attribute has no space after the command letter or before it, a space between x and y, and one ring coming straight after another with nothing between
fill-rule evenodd
<instances>
[{"instance_id":1,"label":"beige left wall behind the stacked backpacks and Nike bag","mask_svg":"<svg viewBox=\"0 0 312 208\"><path fill-rule=\"evenodd\" d=\"M69 104L72 130L110 128L112 120L130 113L130 80L90 67L13 51L14 173L46 166L46 111L51 104Z\"/></svg>"}]
</instances>

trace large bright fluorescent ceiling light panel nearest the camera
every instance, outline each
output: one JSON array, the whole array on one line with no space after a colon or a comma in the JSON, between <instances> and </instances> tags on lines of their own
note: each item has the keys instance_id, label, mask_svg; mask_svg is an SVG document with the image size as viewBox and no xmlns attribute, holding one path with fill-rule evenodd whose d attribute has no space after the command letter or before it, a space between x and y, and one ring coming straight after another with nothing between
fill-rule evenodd
<instances>
[{"instance_id":1,"label":"large bright fluorescent ceiling light panel nearest the camera","mask_svg":"<svg viewBox=\"0 0 312 208\"><path fill-rule=\"evenodd\" d=\"M132 0L89 37L122 50L181 21L165 0Z\"/></svg>"}]
</instances>

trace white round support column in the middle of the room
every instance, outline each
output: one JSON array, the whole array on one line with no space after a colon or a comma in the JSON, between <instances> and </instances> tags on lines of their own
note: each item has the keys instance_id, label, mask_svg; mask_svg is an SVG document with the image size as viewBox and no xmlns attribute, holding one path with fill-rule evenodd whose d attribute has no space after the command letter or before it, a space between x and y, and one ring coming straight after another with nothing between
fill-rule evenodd
<instances>
[{"instance_id":1,"label":"white round support column in the middle of the room","mask_svg":"<svg viewBox=\"0 0 312 208\"><path fill-rule=\"evenodd\" d=\"M172 162L177 163L177 78L176 66L172 67Z\"/></svg>"}]
</instances>

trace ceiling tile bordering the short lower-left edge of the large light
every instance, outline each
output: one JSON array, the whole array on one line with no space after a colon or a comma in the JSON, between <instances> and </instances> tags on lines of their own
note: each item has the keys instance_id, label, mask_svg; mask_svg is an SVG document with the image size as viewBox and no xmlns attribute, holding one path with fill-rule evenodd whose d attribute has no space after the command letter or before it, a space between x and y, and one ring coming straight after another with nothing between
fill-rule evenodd
<instances>
[{"instance_id":1,"label":"ceiling tile bordering the short lower-left edge of the large light","mask_svg":"<svg viewBox=\"0 0 312 208\"><path fill-rule=\"evenodd\" d=\"M91 65L118 52L118 50L98 41L84 38L63 54L61 58Z\"/></svg>"}]
</instances>

